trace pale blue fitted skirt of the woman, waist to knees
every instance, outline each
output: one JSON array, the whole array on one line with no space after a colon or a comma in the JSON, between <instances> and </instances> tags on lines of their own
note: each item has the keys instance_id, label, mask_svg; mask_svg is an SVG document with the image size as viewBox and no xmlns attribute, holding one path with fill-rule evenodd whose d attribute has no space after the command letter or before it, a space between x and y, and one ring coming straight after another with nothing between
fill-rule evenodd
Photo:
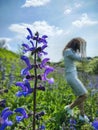
<instances>
[{"instance_id":1,"label":"pale blue fitted skirt of the woman, waist to knees","mask_svg":"<svg viewBox=\"0 0 98 130\"><path fill-rule=\"evenodd\" d=\"M76 96L81 96L88 93L83 83L79 80L77 71L67 72L66 80Z\"/></svg>"}]
</instances>

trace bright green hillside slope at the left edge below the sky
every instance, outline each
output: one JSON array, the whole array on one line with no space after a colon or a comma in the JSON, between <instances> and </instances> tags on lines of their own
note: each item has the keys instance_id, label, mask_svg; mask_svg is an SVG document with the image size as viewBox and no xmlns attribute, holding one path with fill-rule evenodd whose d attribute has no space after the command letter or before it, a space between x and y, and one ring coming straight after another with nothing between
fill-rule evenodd
<instances>
[{"instance_id":1,"label":"bright green hillside slope at the left edge below the sky","mask_svg":"<svg viewBox=\"0 0 98 130\"><path fill-rule=\"evenodd\" d=\"M0 48L0 58L3 59L6 58L7 60L11 60L11 59L14 60L14 59L18 59L19 55L12 51Z\"/></svg>"}]
</instances>

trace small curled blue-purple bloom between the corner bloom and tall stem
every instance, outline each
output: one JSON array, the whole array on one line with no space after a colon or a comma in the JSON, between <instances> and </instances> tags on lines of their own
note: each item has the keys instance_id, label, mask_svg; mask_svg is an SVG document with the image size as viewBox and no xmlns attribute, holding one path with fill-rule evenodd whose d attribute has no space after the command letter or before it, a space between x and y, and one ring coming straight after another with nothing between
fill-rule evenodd
<instances>
[{"instance_id":1,"label":"small curled blue-purple bloom between the corner bloom and tall stem","mask_svg":"<svg viewBox=\"0 0 98 130\"><path fill-rule=\"evenodd\" d=\"M20 122L21 120L23 120L24 118L28 118L28 115L26 113L26 110L24 108L17 108L15 110L15 112L18 112L21 114L21 116L16 116L16 121Z\"/></svg>"}]
</instances>

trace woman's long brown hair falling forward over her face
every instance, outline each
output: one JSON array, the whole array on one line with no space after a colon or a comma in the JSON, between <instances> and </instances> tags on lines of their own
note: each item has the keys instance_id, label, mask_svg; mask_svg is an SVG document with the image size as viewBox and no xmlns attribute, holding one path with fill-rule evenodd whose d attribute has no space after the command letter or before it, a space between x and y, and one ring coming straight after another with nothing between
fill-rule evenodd
<instances>
[{"instance_id":1,"label":"woman's long brown hair falling forward over her face","mask_svg":"<svg viewBox=\"0 0 98 130\"><path fill-rule=\"evenodd\" d=\"M81 53L82 57L86 57L86 41L84 39L78 37L70 40L63 49L63 54L64 51L68 48L73 49L75 52L78 50Z\"/></svg>"}]
</instances>

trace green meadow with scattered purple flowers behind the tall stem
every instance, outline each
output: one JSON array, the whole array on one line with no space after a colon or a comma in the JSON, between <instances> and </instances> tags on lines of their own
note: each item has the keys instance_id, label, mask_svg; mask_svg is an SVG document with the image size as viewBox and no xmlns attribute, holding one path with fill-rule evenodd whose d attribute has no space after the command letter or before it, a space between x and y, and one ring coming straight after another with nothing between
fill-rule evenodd
<instances>
[{"instance_id":1,"label":"green meadow with scattered purple flowers behind the tall stem","mask_svg":"<svg viewBox=\"0 0 98 130\"><path fill-rule=\"evenodd\" d=\"M33 59L31 59L33 61ZM78 119L79 110L75 108L74 117L70 117L65 111L64 106L71 103L75 96L66 83L64 75L63 61L58 63L50 63L54 67L54 72L49 75L53 77L55 82L52 85L45 83L45 91L37 91L37 112L45 111L45 115L36 121L36 125L45 124L46 130L93 130L91 123L98 118L98 58L92 58L88 64L77 64L79 78L88 89L89 95L85 102L85 112L90 119L90 123L81 122ZM0 49L0 89L7 88L8 93L0 94L0 100L6 100L6 106L13 111L18 107L24 107L27 113L33 111L33 93L26 97L16 97L19 90L15 86L15 82L22 81L20 71L25 64L20 60L20 56L5 49ZM33 74L33 70L31 70ZM5 75L3 77L3 74ZM11 81L10 74L13 80ZM31 81L33 87L34 81ZM4 108L0 107L0 111ZM15 115L10 117L13 121L11 127L6 130L32 130L32 119L24 119L20 123L16 123ZM76 123L71 124L70 120ZM75 129L71 128L74 127Z\"/></svg>"}]
</instances>

